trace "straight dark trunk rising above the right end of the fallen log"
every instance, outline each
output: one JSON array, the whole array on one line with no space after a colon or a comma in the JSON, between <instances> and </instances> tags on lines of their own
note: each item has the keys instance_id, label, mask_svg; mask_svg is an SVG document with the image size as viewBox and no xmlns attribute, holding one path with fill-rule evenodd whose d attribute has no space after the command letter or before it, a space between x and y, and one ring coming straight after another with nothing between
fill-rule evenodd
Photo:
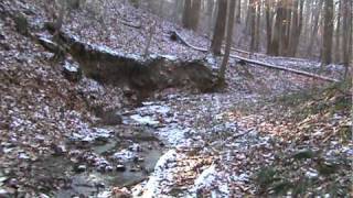
<instances>
[{"instance_id":1,"label":"straight dark trunk rising above the right end of the fallen log","mask_svg":"<svg viewBox=\"0 0 353 198\"><path fill-rule=\"evenodd\" d=\"M321 48L321 63L332 63L332 36L333 36L333 0L325 0L324 3L323 43Z\"/></svg>"}]
</instances>

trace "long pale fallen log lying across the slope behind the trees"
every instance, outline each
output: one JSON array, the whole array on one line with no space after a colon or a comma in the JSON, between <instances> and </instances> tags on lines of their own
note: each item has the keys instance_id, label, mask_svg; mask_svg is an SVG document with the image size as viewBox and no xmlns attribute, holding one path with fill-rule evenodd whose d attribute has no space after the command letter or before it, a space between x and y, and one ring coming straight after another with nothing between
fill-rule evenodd
<instances>
[{"instance_id":1,"label":"long pale fallen log lying across the slope behind the trees","mask_svg":"<svg viewBox=\"0 0 353 198\"><path fill-rule=\"evenodd\" d=\"M176 36L176 38L184 45L195 50L195 51L200 51L200 52L208 52L207 48L202 48L202 47L197 47L192 45L191 43L189 43L188 41L185 41L178 32L173 31L172 34L174 34ZM264 62L258 62L258 61L254 61L254 59L249 59L249 58L244 58L240 56L237 56L235 54L231 54L229 55L232 58L236 58L239 61L243 61L247 64L253 64L253 65L258 65L258 66L263 66L263 67L267 67L267 68L271 68L271 69L277 69L277 70L284 70L284 72L288 72L288 73L292 73L292 74L297 74L297 75L301 75L301 76L307 76L307 77L311 77L311 78L315 78L315 79L321 79L321 80L325 80L325 81L332 81L332 82L339 82L340 80L334 79L334 78L330 78L330 77L325 77L325 76L321 76L321 75L317 75L317 74L312 74L312 73L308 73L308 72L303 72L303 70L298 70L298 69L292 69L292 68L287 68L287 67L282 67L282 66L276 66L276 65L271 65L268 63L264 63Z\"/></svg>"}]
</instances>

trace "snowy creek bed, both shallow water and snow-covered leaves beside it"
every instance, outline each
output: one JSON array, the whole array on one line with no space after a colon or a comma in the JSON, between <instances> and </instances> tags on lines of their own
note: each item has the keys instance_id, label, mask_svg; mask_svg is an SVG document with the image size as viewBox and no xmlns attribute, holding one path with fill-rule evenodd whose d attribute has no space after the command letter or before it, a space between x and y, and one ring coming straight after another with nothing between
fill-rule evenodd
<instances>
[{"instance_id":1,"label":"snowy creek bed, both shallow water and snow-covered leaves beside it","mask_svg":"<svg viewBox=\"0 0 353 198\"><path fill-rule=\"evenodd\" d=\"M57 178L55 197L234 195L229 183L247 184L252 172L232 172L226 162L245 160L250 146L270 146L269 139L223 119L242 97L169 95L142 102L117 112L120 124L83 127L33 173Z\"/></svg>"}]
</instances>

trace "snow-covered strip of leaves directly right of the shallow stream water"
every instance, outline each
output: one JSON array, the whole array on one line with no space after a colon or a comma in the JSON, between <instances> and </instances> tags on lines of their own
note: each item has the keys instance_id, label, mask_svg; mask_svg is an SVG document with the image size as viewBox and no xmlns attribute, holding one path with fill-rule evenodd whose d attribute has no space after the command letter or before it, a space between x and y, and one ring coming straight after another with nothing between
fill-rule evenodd
<instances>
[{"instance_id":1,"label":"snow-covered strip of leaves directly right of the shallow stream water","mask_svg":"<svg viewBox=\"0 0 353 198\"><path fill-rule=\"evenodd\" d=\"M270 146L268 138L223 120L224 110L239 98L227 94L170 95L163 101L145 102L136 109L139 113L130 119L153 127L168 151L157 162L149 179L131 189L132 196L236 195L231 183L246 184L252 173L233 172L226 167L227 162L234 157L245 160L243 152L250 146Z\"/></svg>"}]
</instances>

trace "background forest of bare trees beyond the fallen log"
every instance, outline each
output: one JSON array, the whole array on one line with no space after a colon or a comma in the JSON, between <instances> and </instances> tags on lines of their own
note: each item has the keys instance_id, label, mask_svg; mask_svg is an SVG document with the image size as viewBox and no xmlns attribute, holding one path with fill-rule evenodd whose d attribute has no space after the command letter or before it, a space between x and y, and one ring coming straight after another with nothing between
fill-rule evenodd
<instances>
[{"instance_id":1,"label":"background forest of bare trees beyond the fallen log","mask_svg":"<svg viewBox=\"0 0 353 198\"><path fill-rule=\"evenodd\" d=\"M221 54L231 1L160 0L160 3L163 9L180 11L172 15L157 11L157 14L208 35L211 52ZM232 46L272 56L320 58L323 65L349 65L352 12L350 0L239 0Z\"/></svg>"}]
</instances>

